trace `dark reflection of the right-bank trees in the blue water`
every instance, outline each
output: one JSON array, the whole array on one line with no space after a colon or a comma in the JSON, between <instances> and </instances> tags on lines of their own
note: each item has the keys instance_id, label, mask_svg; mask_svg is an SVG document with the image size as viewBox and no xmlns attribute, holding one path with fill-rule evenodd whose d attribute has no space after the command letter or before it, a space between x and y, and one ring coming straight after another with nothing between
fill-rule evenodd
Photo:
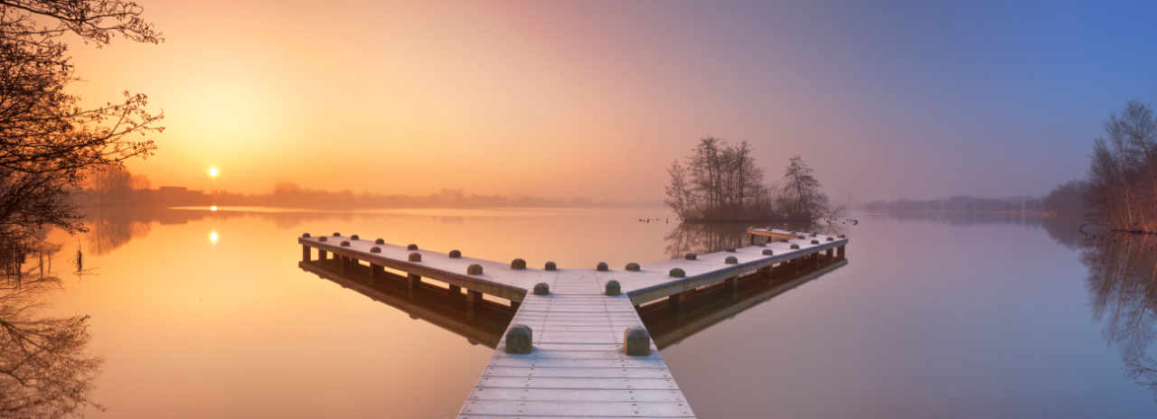
<instances>
[{"instance_id":1,"label":"dark reflection of the right-bank trees in the blue water","mask_svg":"<svg viewBox=\"0 0 1157 419\"><path fill-rule=\"evenodd\" d=\"M1113 233L1090 240L1081 259L1089 267L1093 318L1117 345L1126 374L1157 397L1157 236Z\"/></svg>"}]
</instances>

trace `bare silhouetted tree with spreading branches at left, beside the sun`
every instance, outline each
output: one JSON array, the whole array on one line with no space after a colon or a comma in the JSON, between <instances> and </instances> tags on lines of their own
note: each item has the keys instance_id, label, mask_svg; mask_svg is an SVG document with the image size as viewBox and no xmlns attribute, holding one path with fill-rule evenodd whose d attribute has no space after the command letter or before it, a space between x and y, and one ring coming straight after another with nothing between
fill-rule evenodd
<instances>
[{"instance_id":1,"label":"bare silhouetted tree with spreading branches at left, beside the sun","mask_svg":"<svg viewBox=\"0 0 1157 419\"><path fill-rule=\"evenodd\" d=\"M141 8L119 0L0 0L0 237L25 240L43 226L83 229L67 199L88 170L119 166L155 148L161 115L145 95L83 109L67 45L74 34L108 44L120 35L159 43Z\"/></svg>"}]
</instances>

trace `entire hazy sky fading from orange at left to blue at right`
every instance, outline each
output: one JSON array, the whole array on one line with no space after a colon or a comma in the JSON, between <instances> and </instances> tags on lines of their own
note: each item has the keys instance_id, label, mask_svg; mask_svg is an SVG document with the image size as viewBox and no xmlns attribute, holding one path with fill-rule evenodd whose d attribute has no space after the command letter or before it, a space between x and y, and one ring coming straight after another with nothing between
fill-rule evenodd
<instances>
[{"instance_id":1,"label":"entire hazy sky fading from orange at left to blue at right","mask_svg":"<svg viewBox=\"0 0 1157 419\"><path fill-rule=\"evenodd\" d=\"M1157 101L1152 2L139 1L167 42L76 91L164 110L154 186L658 199L709 134L840 201L1042 194Z\"/></svg>"}]
</instances>

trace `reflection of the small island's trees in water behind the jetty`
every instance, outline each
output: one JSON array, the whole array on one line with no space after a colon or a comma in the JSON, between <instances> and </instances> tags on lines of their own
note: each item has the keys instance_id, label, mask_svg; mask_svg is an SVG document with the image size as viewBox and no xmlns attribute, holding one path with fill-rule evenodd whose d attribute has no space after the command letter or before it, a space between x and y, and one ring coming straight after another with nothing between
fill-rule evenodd
<instances>
[{"instance_id":1,"label":"reflection of the small island's trees in water behind the jetty","mask_svg":"<svg viewBox=\"0 0 1157 419\"><path fill-rule=\"evenodd\" d=\"M768 227L749 222L683 222L663 237L666 241L666 255L672 259L681 258L687 252L707 253L728 248L747 245L747 227ZM787 230L838 234L839 225L808 226L801 223L775 223L773 227Z\"/></svg>"}]
</instances>

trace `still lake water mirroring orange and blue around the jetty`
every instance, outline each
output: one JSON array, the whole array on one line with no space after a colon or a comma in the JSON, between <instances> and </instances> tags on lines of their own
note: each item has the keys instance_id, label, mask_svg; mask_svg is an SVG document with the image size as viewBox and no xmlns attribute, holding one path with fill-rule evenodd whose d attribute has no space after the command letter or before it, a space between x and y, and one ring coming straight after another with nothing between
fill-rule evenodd
<instances>
[{"instance_id":1,"label":"still lake water mirroring orange and blue around the jetty","mask_svg":"<svg viewBox=\"0 0 1157 419\"><path fill-rule=\"evenodd\" d=\"M45 302L91 316L108 410L90 417L454 416L493 348L301 271L303 231L565 267L742 231L638 221L662 208L227 210L105 211L56 237L56 271L86 252ZM1157 252L1129 249L1155 243L1090 249L1033 219L858 219L828 229L848 234L848 265L662 350L700 417L1157 418L1127 368L1152 354L1157 286L1113 273L1152 274Z\"/></svg>"}]
</instances>

